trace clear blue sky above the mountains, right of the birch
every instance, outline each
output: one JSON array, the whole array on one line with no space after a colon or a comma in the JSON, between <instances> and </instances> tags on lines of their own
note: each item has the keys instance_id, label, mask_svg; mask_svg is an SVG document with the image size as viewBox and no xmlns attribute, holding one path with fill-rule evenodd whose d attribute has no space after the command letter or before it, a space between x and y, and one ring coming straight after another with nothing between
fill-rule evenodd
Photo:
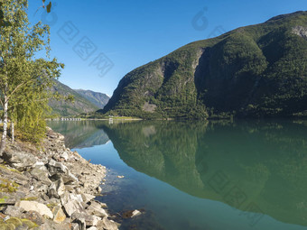
<instances>
[{"instance_id":1,"label":"clear blue sky above the mountains, right of the birch","mask_svg":"<svg viewBox=\"0 0 307 230\"><path fill-rule=\"evenodd\" d=\"M60 81L110 96L126 73L191 41L307 10L307 0L52 2L51 14L35 14L42 0L29 0L29 17L51 26L51 56L66 65Z\"/></svg>"}]
</instances>

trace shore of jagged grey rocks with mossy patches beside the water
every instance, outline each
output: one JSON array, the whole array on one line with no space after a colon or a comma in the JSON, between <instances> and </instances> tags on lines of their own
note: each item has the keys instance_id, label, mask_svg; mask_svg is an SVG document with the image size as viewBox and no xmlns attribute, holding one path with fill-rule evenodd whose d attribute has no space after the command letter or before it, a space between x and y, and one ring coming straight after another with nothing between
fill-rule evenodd
<instances>
[{"instance_id":1,"label":"shore of jagged grey rocks with mossy patches beside the water","mask_svg":"<svg viewBox=\"0 0 307 230\"><path fill-rule=\"evenodd\" d=\"M50 128L38 150L8 145L0 157L0 230L116 230L107 205L94 198L106 168L65 147Z\"/></svg>"}]
</instances>

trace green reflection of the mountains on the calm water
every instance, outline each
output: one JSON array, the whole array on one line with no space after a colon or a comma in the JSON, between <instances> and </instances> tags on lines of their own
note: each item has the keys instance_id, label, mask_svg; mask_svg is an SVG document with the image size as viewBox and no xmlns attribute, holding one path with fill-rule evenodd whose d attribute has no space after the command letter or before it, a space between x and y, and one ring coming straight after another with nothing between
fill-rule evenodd
<instances>
[{"instance_id":1,"label":"green reflection of the mountains on the calm water","mask_svg":"<svg viewBox=\"0 0 307 230\"><path fill-rule=\"evenodd\" d=\"M107 143L133 169L196 198L307 225L307 122L76 122L51 127L71 148ZM103 162L102 162L103 163Z\"/></svg>"}]
</instances>

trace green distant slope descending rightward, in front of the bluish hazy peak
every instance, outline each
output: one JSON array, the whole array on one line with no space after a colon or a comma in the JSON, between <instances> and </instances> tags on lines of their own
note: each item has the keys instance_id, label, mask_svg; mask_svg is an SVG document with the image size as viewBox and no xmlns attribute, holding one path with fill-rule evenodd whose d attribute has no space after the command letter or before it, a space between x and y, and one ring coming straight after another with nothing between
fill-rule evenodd
<instances>
[{"instance_id":1,"label":"green distant slope descending rightward, in front of the bluish hazy peak","mask_svg":"<svg viewBox=\"0 0 307 230\"><path fill-rule=\"evenodd\" d=\"M88 99L81 97L79 93L70 87L56 80L51 91L58 92L61 96L73 96L74 102L51 100L49 106L52 108L52 113L55 115L79 115L82 113L90 113L98 110L98 106L92 104Z\"/></svg>"}]
</instances>

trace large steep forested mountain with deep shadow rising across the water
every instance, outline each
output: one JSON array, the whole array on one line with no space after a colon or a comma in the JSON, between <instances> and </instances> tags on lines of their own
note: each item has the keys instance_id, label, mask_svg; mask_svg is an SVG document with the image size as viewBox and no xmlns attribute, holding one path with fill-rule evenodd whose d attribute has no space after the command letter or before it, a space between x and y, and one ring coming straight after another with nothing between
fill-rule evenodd
<instances>
[{"instance_id":1,"label":"large steep forested mountain with deep shadow rising across the water","mask_svg":"<svg viewBox=\"0 0 307 230\"><path fill-rule=\"evenodd\" d=\"M195 41L129 72L103 113L307 115L307 12Z\"/></svg>"}]
</instances>

